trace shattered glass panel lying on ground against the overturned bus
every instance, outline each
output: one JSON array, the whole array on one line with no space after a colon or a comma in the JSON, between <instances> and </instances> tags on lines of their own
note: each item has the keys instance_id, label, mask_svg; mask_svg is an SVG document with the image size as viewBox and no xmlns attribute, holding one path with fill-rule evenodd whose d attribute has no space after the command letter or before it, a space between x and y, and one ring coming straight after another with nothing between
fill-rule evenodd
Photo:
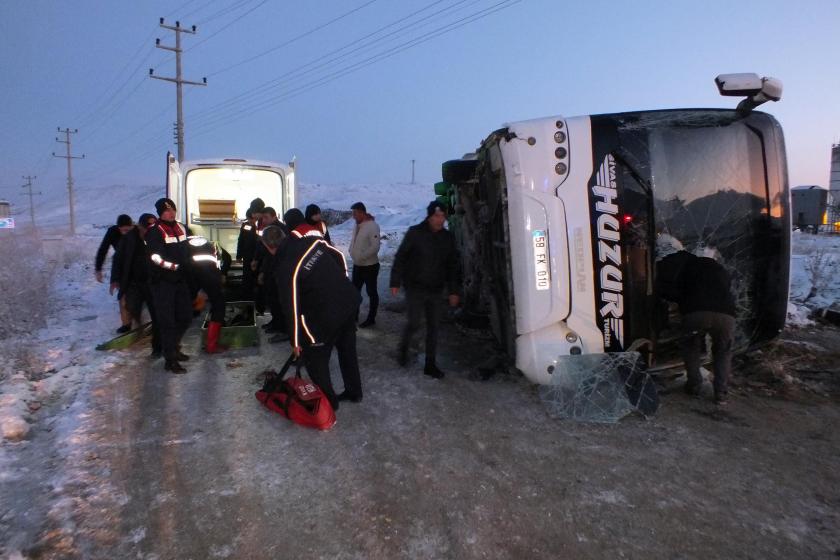
<instances>
[{"instance_id":1,"label":"shattered glass panel lying on ground against the overturned bus","mask_svg":"<svg viewBox=\"0 0 840 560\"><path fill-rule=\"evenodd\" d=\"M549 416L579 422L611 424L632 412L651 416L659 407L639 352L564 357L539 394Z\"/></svg>"}]
</instances>

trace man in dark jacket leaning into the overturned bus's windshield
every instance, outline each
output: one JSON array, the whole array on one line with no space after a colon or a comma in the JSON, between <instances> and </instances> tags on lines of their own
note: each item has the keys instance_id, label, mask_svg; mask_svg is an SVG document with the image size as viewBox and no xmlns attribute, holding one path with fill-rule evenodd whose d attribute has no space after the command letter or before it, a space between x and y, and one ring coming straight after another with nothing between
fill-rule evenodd
<instances>
[{"instance_id":1,"label":"man in dark jacket leaning into the overturned bus's windshield","mask_svg":"<svg viewBox=\"0 0 840 560\"><path fill-rule=\"evenodd\" d=\"M687 251L672 253L656 264L656 293L676 302L682 315L685 391L699 395L703 384L700 359L706 334L712 337L715 402L724 404L732 367L735 300L726 269L717 261Z\"/></svg>"}]
</instances>

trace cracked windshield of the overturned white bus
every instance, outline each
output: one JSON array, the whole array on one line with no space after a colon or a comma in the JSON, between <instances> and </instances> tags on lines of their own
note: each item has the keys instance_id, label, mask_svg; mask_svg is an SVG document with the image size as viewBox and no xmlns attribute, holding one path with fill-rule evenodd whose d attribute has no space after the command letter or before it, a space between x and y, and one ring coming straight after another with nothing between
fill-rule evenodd
<instances>
[{"instance_id":1,"label":"cracked windshield of the overturned white bus","mask_svg":"<svg viewBox=\"0 0 840 560\"><path fill-rule=\"evenodd\" d=\"M778 172L783 148L775 121L722 110L626 113L609 121L601 129L615 154L625 212L630 329L636 336L652 330L660 342L676 335L673 309L669 315L652 303L652 261L684 248L730 273L737 345L775 334L778 306L786 304L779 284L787 285L787 184Z\"/></svg>"}]
</instances>

